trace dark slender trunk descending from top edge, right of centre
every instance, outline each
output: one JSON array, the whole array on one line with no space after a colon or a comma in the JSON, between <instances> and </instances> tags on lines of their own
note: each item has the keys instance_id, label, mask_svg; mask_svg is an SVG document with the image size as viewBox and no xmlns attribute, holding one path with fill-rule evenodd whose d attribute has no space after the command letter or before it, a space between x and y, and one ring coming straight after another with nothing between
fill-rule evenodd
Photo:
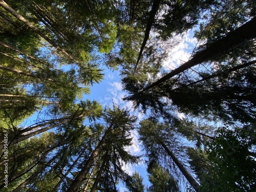
<instances>
[{"instance_id":1,"label":"dark slender trunk descending from top edge, right of centre","mask_svg":"<svg viewBox=\"0 0 256 192\"><path fill-rule=\"evenodd\" d=\"M145 36L144 36L144 39L143 39L143 42L142 42L142 45L141 45L141 48L140 48L139 56L138 56L138 59L137 59L137 63L134 67L134 72L133 73L136 72L138 63L139 63L140 58L142 56L142 52L143 52L143 50L146 46L146 41L150 37L150 30L151 30L151 27L153 25L153 22L154 22L157 10L159 8L160 2L161 2L160 0L154 0L154 2L153 2L152 9L151 9L151 12L150 12L150 17L148 17L148 20L147 20Z\"/></svg>"}]
</instances>

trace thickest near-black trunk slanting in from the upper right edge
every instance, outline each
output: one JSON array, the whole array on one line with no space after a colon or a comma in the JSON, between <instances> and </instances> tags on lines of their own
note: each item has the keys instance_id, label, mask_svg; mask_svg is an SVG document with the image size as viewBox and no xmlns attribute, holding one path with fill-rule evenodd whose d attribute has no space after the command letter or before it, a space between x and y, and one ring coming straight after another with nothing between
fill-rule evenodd
<instances>
[{"instance_id":1,"label":"thickest near-black trunk slanting in from the upper right edge","mask_svg":"<svg viewBox=\"0 0 256 192\"><path fill-rule=\"evenodd\" d=\"M238 46L241 46L248 42L248 40L256 37L256 17L252 18L246 24L242 25L238 29L230 32L225 37L220 40L217 40L207 49L197 53L192 59L185 62L182 66L163 76L156 82L152 83L150 86L146 87L142 91L138 92L131 97L132 99L135 96L139 96L140 93L152 89L155 86L158 86L160 83L178 75L179 73L184 72L185 70L198 65L199 63L206 61L212 57L218 56L224 52L227 52L231 49L234 49ZM127 98L126 98L127 99Z\"/></svg>"}]
</instances>

